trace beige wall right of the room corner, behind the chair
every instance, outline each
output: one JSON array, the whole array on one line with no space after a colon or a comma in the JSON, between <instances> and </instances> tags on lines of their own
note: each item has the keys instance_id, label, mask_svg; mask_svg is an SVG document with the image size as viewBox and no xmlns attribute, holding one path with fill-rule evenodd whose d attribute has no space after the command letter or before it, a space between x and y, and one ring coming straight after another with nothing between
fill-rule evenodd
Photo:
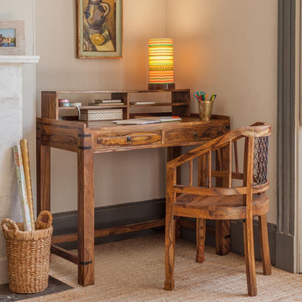
<instances>
[{"instance_id":1,"label":"beige wall right of the room corner, behind the chair","mask_svg":"<svg viewBox=\"0 0 302 302\"><path fill-rule=\"evenodd\" d=\"M272 124L271 223L277 219L277 18L275 0L166 0L166 37L174 39L175 82L191 89L192 112L198 112L195 91L216 92L213 112L229 115L231 129L256 121Z\"/></svg>"}]
</instances>

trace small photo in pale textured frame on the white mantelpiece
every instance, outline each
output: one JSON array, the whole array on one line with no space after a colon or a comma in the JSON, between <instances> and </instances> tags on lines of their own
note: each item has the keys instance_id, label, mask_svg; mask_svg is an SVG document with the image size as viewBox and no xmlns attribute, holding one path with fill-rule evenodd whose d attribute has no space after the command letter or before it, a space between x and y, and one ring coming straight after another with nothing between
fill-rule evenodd
<instances>
[{"instance_id":1,"label":"small photo in pale textured frame on the white mantelpiece","mask_svg":"<svg viewBox=\"0 0 302 302\"><path fill-rule=\"evenodd\" d=\"M0 20L0 55L25 55L24 21Z\"/></svg>"}]
</instances>

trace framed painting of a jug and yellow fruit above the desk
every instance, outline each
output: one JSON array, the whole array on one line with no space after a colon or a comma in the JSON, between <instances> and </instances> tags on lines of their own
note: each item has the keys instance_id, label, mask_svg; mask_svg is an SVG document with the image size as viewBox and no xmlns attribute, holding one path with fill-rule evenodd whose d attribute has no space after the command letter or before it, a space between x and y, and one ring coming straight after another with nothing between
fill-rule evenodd
<instances>
[{"instance_id":1,"label":"framed painting of a jug and yellow fruit above the desk","mask_svg":"<svg viewBox=\"0 0 302 302\"><path fill-rule=\"evenodd\" d=\"M76 0L76 57L123 58L123 0Z\"/></svg>"}]
</instances>

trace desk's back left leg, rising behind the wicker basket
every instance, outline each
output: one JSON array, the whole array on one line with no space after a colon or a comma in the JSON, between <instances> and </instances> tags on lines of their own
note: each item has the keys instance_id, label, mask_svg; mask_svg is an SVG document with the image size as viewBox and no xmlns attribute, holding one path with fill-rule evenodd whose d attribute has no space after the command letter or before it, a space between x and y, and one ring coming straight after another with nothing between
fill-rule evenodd
<instances>
[{"instance_id":1,"label":"desk's back left leg, rising behind the wicker basket","mask_svg":"<svg viewBox=\"0 0 302 302\"><path fill-rule=\"evenodd\" d=\"M37 128L37 216L50 211L50 147L41 145L40 128ZM43 217L43 221L46 217ZM45 221L46 222L46 221Z\"/></svg>"}]
</instances>

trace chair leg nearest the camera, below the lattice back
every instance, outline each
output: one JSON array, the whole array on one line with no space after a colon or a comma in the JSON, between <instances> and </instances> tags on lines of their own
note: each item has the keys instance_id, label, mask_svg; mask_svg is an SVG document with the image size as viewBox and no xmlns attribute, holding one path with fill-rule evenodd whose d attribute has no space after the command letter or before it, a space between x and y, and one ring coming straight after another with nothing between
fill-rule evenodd
<instances>
[{"instance_id":1,"label":"chair leg nearest the camera, below the lattice back","mask_svg":"<svg viewBox=\"0 0 302 302\"><path fill-rule=\"evenodd\" d=\"M248 215L246 222L243 222L244 254L246 263L246 282L249 296L257 295L254 238L253 238L253 217Z\"/></svg>"}]
</instances>

